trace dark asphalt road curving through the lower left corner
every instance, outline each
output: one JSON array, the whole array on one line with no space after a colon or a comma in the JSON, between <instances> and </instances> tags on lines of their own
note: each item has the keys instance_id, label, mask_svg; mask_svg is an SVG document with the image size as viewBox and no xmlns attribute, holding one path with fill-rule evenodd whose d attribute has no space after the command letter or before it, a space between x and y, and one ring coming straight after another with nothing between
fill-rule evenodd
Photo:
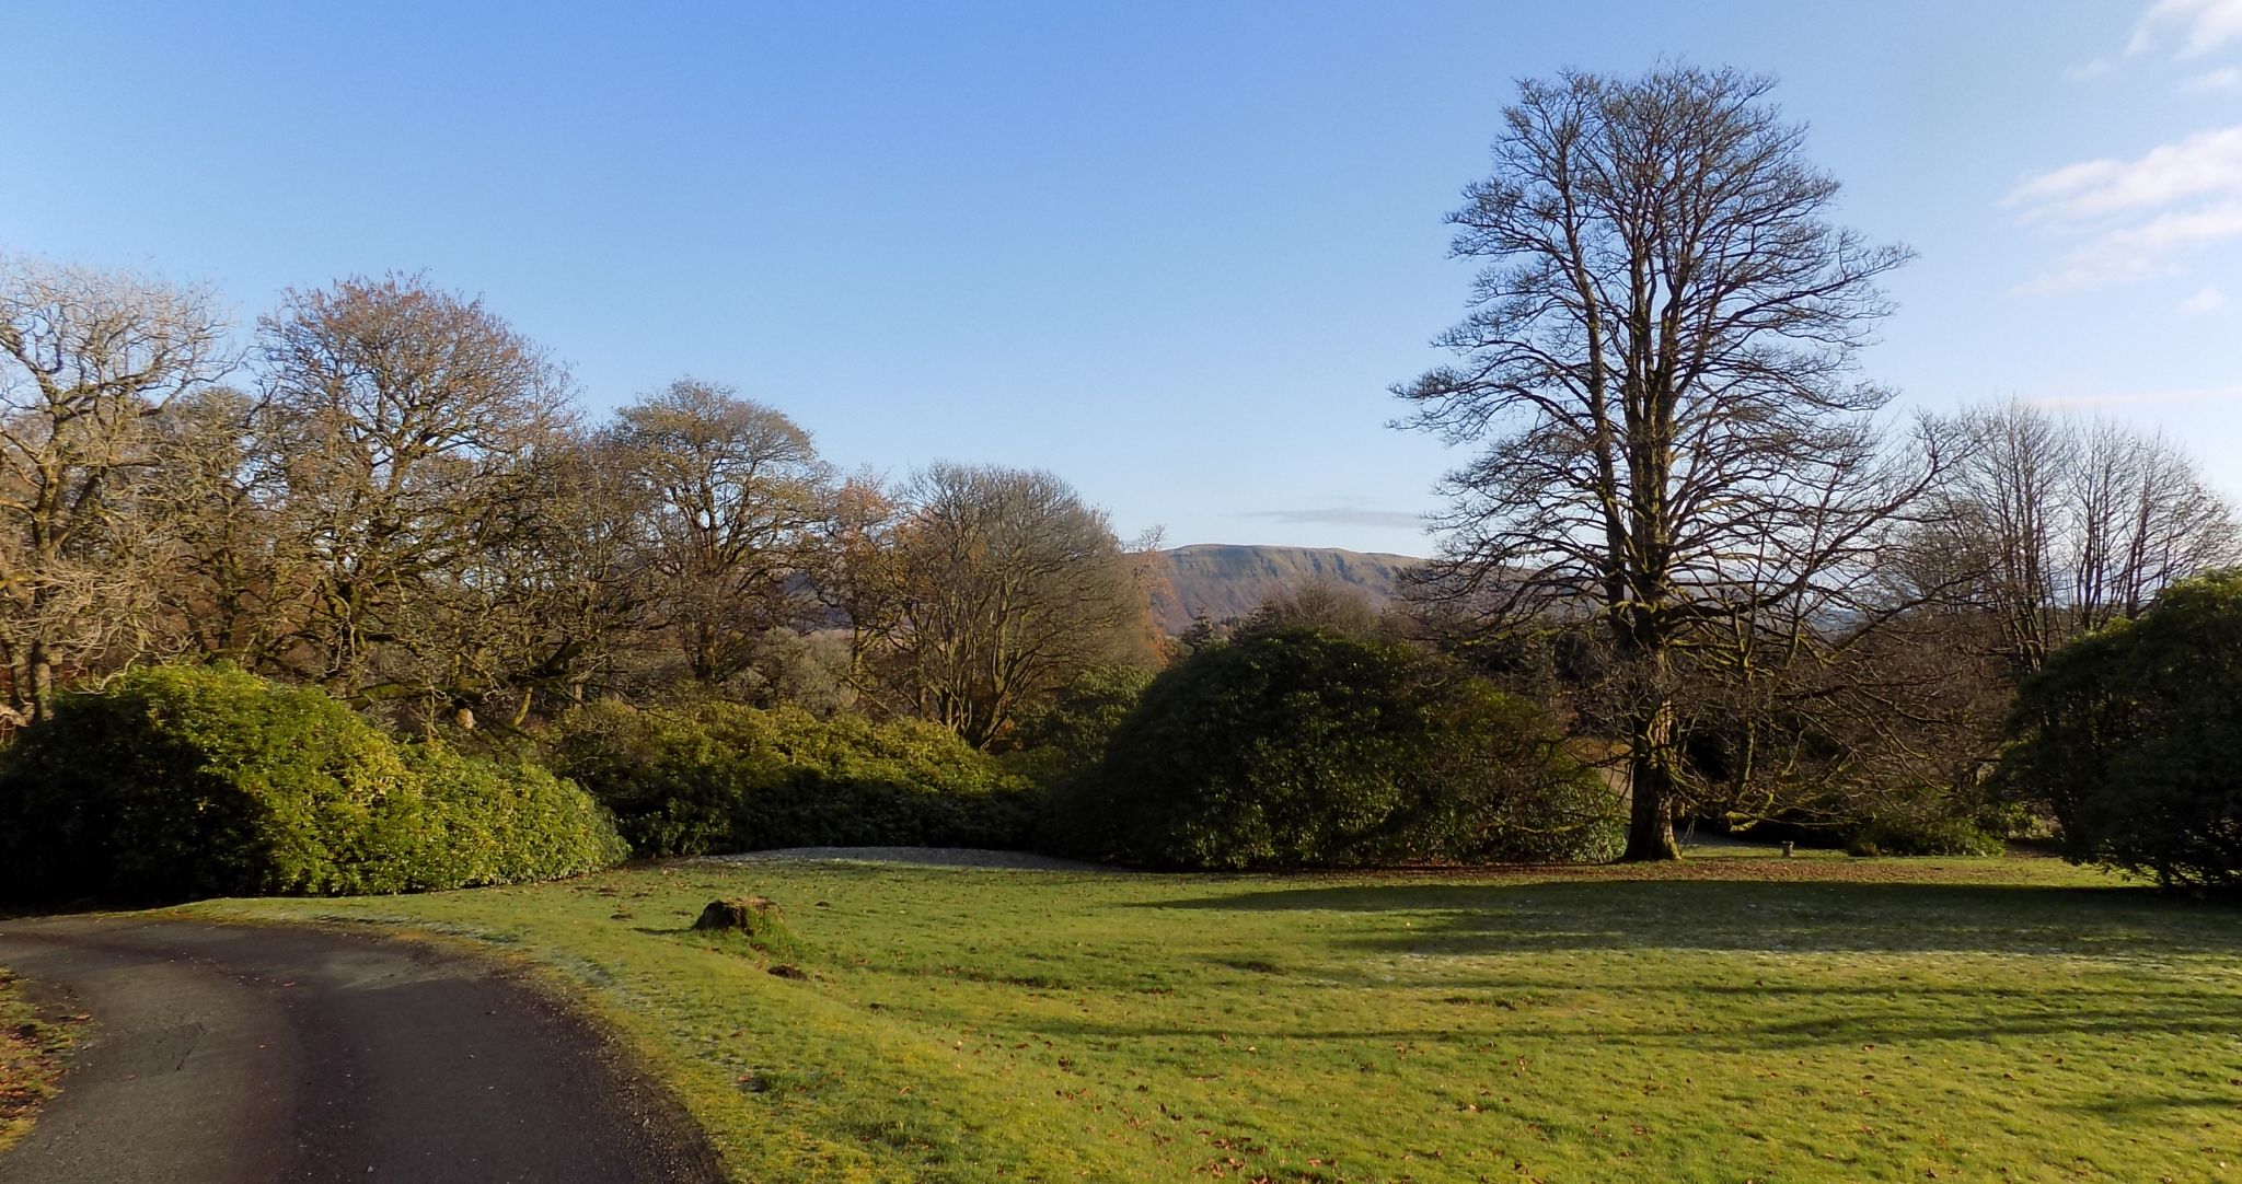
<instances>
[{"instance_id":1,"label":"dark asphalt road curving through the lower left corner","mask_svg":"<svg viewBox=\"0 0 2242 1184\"><path fill-rule=\"evenodd\" d=\"M325 928L0 922L94 1016L0 1184L700 1182L706 1141L509 971Z\"/></svg>"}]
</instances>

